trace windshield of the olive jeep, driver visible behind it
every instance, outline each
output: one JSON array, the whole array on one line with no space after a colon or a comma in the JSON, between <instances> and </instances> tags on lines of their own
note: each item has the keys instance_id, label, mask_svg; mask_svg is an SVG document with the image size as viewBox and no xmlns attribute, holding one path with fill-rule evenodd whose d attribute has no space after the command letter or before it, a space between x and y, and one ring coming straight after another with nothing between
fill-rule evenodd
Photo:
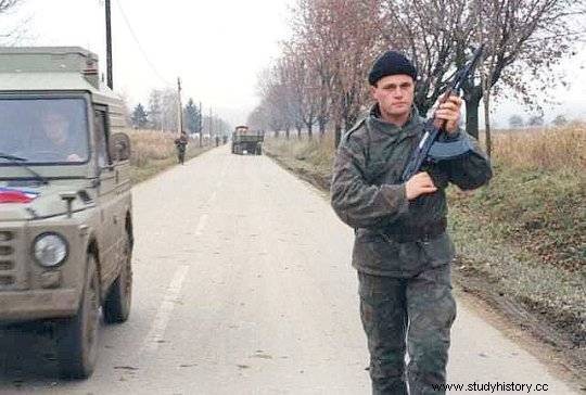
<instances>
[{"instance_id":1,"label":"windshield of the olive jeep, driver visible behind it","mask_svg":"<svg viewBox=\"0 0 586 395\"><path fill-rule=\"evenodd\" d=\"M0 152L27 165L86 163L85 100L0 98ZM0 157L0 166L14 166L14 161Z\"/></svg>"}]
</instances>

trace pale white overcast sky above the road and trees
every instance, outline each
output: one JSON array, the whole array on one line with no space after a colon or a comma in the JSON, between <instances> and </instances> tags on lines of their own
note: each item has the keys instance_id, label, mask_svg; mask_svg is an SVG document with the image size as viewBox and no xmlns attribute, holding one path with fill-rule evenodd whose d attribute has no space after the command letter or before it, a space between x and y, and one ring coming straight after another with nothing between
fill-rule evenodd
<instances>
[{"instance_id":1,"label":"pale white overcast sky above the road and trees","mask_svg":"<svg viewBox=\"0 0 586 395\"><path fill-rule=\"evenodd\" d=\"M153 88L183 82L183 100L202 101L204 112L232 124L245 122L256 105L258 73L279 54L289 35L293 0L112 0L114 85L131 105L146 104ZM24 0L4 16L27 22L27 44L80 46L100 56L105 71L103 0ZM126 15L126 18L124 17ZM135 39L136 37L136 39ZM138 42L137 42L138 41ZM563 67L574 81L556 89L562 105L546 119L565 113L586 117L586 46ZM496 111L500 126L522 107L504 101Z\"/></svg>"}]
</instances>

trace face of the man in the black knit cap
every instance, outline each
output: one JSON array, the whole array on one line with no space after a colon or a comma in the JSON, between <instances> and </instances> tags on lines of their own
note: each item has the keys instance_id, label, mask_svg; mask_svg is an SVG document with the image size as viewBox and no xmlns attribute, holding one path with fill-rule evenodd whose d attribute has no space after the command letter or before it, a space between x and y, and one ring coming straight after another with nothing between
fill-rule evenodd
<instances>
[{"instance_id":1,"label":"face of the man in the black knit cap","mask_svg":"<svg viewBox=\"0 0 586 395\"><path fill-rule=\"evenodd\" d=\"M386 76L371 87L371 93L379 103L381 112L393 117L400 117L411 112L415 82L405 74Z\"/></svg>"}]
</instances>

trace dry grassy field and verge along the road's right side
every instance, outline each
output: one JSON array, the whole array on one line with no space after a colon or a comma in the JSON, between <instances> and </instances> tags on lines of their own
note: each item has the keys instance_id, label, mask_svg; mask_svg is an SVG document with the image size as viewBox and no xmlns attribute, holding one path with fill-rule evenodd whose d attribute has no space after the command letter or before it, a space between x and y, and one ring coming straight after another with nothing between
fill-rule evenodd
<instances>
[{"instance_id":1,"label":"dry grassy field and verge along the road's right side","mask_svg":"<svg viewBox=\"0 0 586 395\"><path fill-rule=\"evenodd\" d=\"M271 139L266 151L329 189L330 136L322 141ZM489 186L474 193L448 191L449 227L459 252L455 279L463 291L511 310L512 316L504 313L542 332L536 334L545 342L566 348L572 364L584 370L586 125L495 132L492 161ZM514 317L519 308L531 319Z\"/></svg>"}]
</instances>

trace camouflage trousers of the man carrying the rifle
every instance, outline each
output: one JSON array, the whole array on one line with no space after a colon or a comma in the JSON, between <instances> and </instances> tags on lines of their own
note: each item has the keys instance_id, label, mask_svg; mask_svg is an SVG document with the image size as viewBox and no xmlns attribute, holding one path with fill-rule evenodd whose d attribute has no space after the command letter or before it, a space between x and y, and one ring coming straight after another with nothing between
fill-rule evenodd
<instances>
[{"instance_id":1,"label":"camouflage trousers of the man carrying the rifle","mask_svg":"<svg viewBox=\"0 0 586 395\"><path fill-rule=\"evenodd\" d=\"M358 281L372 394L444 394L432 385L446 382L449 331L456 318L450 265L407 279L358 272Z\"/></svg>"}]
</instances>

